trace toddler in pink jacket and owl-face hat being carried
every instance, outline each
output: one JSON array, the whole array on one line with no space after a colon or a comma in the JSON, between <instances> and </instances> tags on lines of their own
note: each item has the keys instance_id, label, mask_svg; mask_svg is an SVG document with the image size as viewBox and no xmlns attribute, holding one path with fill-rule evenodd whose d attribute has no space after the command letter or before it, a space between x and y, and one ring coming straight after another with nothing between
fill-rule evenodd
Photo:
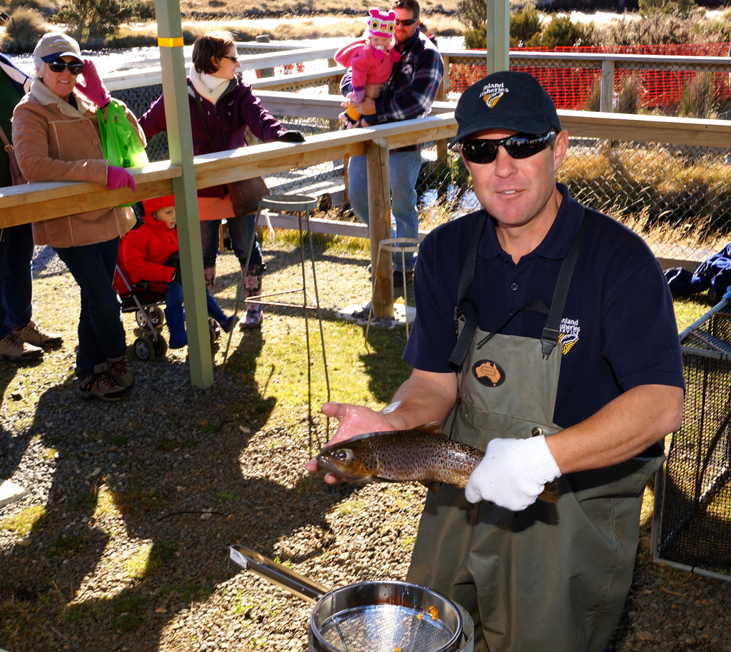
<instances>
[{"instance_id":1,"label":"toddler in pink jacket and owl-face hat being carried","mask_svg":"<svg viewBox=\"0 0 731 652\"><path fill-rule=\"evenodd\" d=\"M352 69L353 90L348 93L349 101L343 104L348 108L339 116L346 129L357 126L360 120L360 113L352 104L362 102L366 97L366 83L385 83L393 64L401 60L401 55L393 49L396 13L392 10L386 14L375 7L371 7L369 13L368 36L344 45L335 53L338 64Z\"/></svg>"}]
</instances>

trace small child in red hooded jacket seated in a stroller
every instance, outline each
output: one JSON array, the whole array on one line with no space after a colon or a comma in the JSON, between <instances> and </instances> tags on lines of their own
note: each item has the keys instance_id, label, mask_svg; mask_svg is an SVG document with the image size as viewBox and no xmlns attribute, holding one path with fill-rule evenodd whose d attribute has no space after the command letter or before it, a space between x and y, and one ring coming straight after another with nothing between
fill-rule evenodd
<instances>
[{"instance_id":1,"label":"small child in red hooded jacket seated in a stroller","mask_svg":"<svg viewBox=\"0 0 731 652\"><path fill-rule=\"evenodd\" d=\"M145 223L129 231L121 242L120 261L130 285L148 281L151 290L165 293L165 320L170 331L170 348L188 344L183 310L178 229L175 229L175 203L172 195L146 199ZM205 291L208 315L215 319L224 332L233 328L233 318Z\"/></svg>"}]
</instances>

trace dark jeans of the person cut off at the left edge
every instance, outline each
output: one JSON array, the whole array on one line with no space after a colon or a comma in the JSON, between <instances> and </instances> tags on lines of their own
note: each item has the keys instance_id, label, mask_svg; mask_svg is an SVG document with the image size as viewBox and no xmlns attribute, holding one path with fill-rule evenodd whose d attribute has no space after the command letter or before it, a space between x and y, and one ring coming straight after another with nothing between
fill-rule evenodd
<instances>
[{"instance_id":1,"label":"dark jeans of the person cut off at the left edge","mask_svg":"<svg viewBox=\"0 0 731 652\"><path fill-rule=\"evenodd\" d=\"M30 224L0 229L0 337L31 321L32 258Z\"/></svg>"}]
</instances>

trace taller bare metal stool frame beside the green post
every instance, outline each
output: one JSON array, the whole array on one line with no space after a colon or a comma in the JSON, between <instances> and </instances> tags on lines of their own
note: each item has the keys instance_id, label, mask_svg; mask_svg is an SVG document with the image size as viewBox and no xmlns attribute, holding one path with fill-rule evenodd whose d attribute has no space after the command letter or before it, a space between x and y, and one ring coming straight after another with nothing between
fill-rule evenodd
<instances>
[{"instance_id":1,"label":"taller bare metal stool frame beside the green post","mask_svg":"<svg viewBox=\"0 0 731 652\"><path fill-rule=\"evenodd\" d=\"M325 369L325 386L327 387L327 402L330 402L330 376L327 372L327 356L325 354L325 335L322 332L322 310L319 304L319 293L317 291L317 273L315 272L315 258L314 258L314 247L312 245L312 231L310 230L310 215L311 212L317 208L317 198L307 195L268 195L262 197L259 202L259 210L257 210L257 216L254 221L254 229L251 234L251 241L249 242L249 252L246 255L246 265L243 269L241 280L238 284L236 291L236 307L234 310L233 319L234 322L238 316L238 308L242 299L246 303L261 304L270 306L281 306L290 308L302 308L305 317L305 337L307 342L307 415L308 415L308 434L309 434L309 445L312 448L312 359L311 359L311 348L310 348L310 330L308 321L308 310L317 310L317 322L319 324L319 335L320 345L322 347L322 365ZM300 231L300 264L302 267L302 285L292 290L285 290L281 292L272 292L270 294L260 294L256 299L244 298L242 288L246 284L246 276L249 274L249 261L251 260L251 251L254 248L254 234L257 231L257 224L259 223L259 216L262 210L276 211L276 212L287 212L296 213L298 216L298 227ZM314 297L310 294L307 289L307 280L305 276L305 248L303 239L303 215L305 222L305 229L307 231L309 246L310 246L310 263L312 266L312 285L314 288ZM268 215L267 215L268 220ZM270 232L273 234L271 224L269 225ZM279 298L287 294L298 294L302 293L302 303L284 303L279 301L272 301L273 297ZM226 352L224 353L224 361L221 365L221 373L219 375L219 381L224 375L226 369L226 361L228 359L229 348L231 345L231 337L233 330L229 332L228 342L226 344ZM325 432L329 438L330 433L330 420L327 419L325 426ZM318 442L319 443L319 442Z\"/></svg>"}]
</instances>

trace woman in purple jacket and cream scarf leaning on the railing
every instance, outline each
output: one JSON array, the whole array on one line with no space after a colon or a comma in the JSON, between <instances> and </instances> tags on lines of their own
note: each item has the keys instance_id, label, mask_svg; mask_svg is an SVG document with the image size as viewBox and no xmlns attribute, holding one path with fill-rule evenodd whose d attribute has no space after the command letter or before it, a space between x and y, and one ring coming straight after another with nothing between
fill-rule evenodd
<instances>
[{"instance_id":1,"label":"woman in purple jacket and cream scarf leaning on the railing","mask_svg":"<svg viewBox=\"0 0 731 652\"><path fill-rule=\"evenodd\" d=\"M209 31L196 39L188 77L193 150L196 155L244 147L247 126L251 133L264 142L303 142L305 139L301 131L284 129L262 107L257 96L251 92L251 86L236 72L240 66L234 39L228 32ZM150 110L140 119L140 126L148 139L167 130L164 96L159 96L153 102ZM231 245L243 273L252 231L256 230L255 215L235 215L225 185L199 190L198 210L205 282L212 292L221 220L225 218L227 221ZM247 297L261 294L264 271L262 250L254 239L254 250L246 276ZM261 321L261 305L249 304L239 326L242 330L258 328Z\"/></svg>"}]
</instances>

